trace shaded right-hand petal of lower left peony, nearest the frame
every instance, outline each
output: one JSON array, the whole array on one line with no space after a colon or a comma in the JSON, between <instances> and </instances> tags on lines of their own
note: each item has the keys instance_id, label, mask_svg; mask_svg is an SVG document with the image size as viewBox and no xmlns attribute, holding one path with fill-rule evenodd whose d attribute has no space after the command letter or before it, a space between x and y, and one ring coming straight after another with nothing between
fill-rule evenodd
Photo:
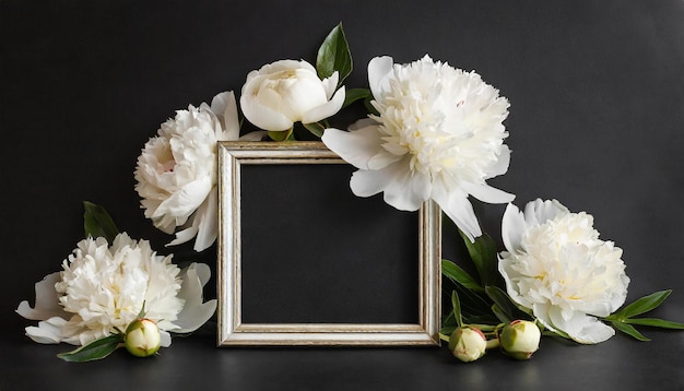
<instances>
[{"instance_id":1,"label":"shaded right-hand petal of lower left peony, nearest the frame","mask_svg":"<svg viewBox=\"0 0 684 391\"><path fill-rule=\"evenodd\" d=\"M174 330L177 333L189 333L199 329L204 324L216 310L216 300L202 303L202 287L207 281L207 271L209 266L198 268L197 263L192 263L182 272L182 286L178 292L178 297L185 300L185 306L178 319L174 321L179 329ZM201 272L198 273L198 270ZM200 275L201 274L201 275Z\"/></svg>"}]
</instances>

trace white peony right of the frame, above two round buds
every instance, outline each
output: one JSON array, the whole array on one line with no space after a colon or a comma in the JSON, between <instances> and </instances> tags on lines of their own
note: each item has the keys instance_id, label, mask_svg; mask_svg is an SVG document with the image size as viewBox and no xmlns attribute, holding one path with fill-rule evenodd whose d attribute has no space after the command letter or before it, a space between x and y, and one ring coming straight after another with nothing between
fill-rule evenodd
<instances>
[{"instance_id":1,"label":"white peony right of the frame, above two round buds","mask_svg":"<svg viewBox=\"0 0 684 391\"><path fill-rule=\"evenodd\" d=\"M507 251L499 254L499 271L514 301L579 343L615 334L595 317L625 303L629 279L622 249L599 239L590 214L570 213L556 200L538 199L524 212L509 204L502 236Z\"/></svg>"}]
</instances>

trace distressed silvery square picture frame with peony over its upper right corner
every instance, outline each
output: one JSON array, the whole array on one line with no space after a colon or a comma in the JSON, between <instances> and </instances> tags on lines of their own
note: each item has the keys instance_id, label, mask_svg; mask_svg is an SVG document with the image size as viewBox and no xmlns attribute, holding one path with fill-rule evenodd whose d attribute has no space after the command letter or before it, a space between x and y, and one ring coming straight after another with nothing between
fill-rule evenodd
<instances>
[{"instance_id":1,"label":"distressed silvery square picture frame with peony over its upper right corner","mask_svg":"<svg viewBox=\"0 0 684 391\"><path fill-rule=\"evenodd\" d=\"M219 346L439 345L441 212L420 209L418 323L243 323L240 274L240 167L346 164L321 142L219 143Z\"/></svg>"}]
</instances>

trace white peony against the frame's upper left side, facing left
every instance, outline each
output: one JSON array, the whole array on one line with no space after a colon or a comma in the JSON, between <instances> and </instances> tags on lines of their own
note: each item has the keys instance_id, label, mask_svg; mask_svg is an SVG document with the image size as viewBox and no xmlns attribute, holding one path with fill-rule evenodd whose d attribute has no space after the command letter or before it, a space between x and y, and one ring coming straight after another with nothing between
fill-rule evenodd
<instances>
[{"instance_id":1,"label":"white peony against the frame's upper left side, facing left","mask_svg":"<svg viewBox=\"0 0 684 391\"><path fill-rule=\"evenodd\" d=\"M217 236L216 142L260 140L263 132L239 138L237 105L233 92L216 95L211 107L189 106L162 123L138 157L135 190L145 217L167 234L177 227L169 245L197 236L194 250L209 248Z\"/></svg>"}]
</instances>

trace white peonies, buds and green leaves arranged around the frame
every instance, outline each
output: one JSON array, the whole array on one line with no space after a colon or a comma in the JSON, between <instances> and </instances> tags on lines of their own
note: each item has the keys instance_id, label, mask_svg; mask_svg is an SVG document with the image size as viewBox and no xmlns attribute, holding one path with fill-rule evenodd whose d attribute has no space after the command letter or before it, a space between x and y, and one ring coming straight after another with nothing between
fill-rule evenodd
<instances>
[{"instance_id":1,"label":"white peonies, buds and green leaves arranged around the frame","mask_svg":"<svg viewBox=\"0 0 684 391\"><path fill-rule=\"evenodd\" d=\"M429 56L408 64L391 57L368 63L368 88L347 90L353 63L342 25L318 50L316 66L280 60L249 72L241 88L241 115L257 131L240 134L233 92L177 110L144 145L134 173L145 217L175 234L170 246L194 239L193 249L214 245L219 226L217 144L224 141L292 141L319 138L357 168L350 180L358 197L382 193L385 202L416 211L436 202L456 224L473 276L443 260L439 336L462 362L497 347L529 359L542 335L579 344L603 342L618 330L648 341L635 325L683 330L684 323L645 318L671 291L624 306L629 279L622 249L600 239L593 217L570 212L557 200L534 200L522 210L514 196L486 180L504 175L510 152L504 143L508 100L474 71ZM363 102L367 118L349 130L329 126L342 108ZM508 203L502 220L503 251L482 233L469 201ZM104 358L125 346L135 356L157 354L170 333L190 333L215 312L202 287L210 268L179 269L173 256L157 256L145 240L120 233L104 208L84 202L85 238L62 262L62 271L36 283L34 307L16 312L37 327L38 343L79 346L59 357Z\"/></svg>"}]
</instances>

